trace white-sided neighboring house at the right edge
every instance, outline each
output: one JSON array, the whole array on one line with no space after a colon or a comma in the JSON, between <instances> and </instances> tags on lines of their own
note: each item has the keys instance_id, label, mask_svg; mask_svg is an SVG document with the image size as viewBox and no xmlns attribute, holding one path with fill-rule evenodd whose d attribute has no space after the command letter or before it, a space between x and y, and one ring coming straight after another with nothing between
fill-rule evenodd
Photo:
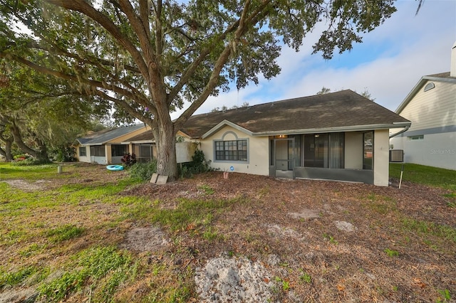
<instances>
[{"instance_id":1,"label":"white-sided neighboring house at the right edge","mask_svg":"<svg viewBox=\"0 0 456 303\"><path fill-rule=\"evenodd\" d=\"M395 112L412 122L390 134L390 147L403 149L405 162L456 170L456 43L450 73L421 78Z\"/></svg>"}]
</instances>

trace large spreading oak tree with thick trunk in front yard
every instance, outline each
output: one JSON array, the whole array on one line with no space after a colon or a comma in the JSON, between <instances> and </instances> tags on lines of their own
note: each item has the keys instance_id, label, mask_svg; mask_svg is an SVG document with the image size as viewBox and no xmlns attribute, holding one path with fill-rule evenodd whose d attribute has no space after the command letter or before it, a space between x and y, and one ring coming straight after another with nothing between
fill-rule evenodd
<instances>
[{"instance_id":1,"label":"large spreading oak tree with thick trunk in front yard","mask_svg":"<svg viewBox=\"0 0 456 303\"><path fill-rule=\"evenodd\" d=\"M157 172L175 179L175 134L229 83L280 72L316 24L323 58L350 50L393 0L0 0L0 58L68 81L152 127ZM18 24L27 30L17 28ZM190 102L172 121L170 111Z\"/></svg>"}]
</instances>

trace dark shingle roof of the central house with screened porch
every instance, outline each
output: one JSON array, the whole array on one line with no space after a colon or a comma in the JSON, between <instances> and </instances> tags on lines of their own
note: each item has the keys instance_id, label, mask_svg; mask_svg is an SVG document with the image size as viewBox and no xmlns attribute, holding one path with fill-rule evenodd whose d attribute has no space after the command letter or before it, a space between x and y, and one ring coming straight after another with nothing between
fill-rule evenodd
<instances>
[{"instance_id":1,"label":"dark shingle roof of the central house with screened porch","mask_svg":"<svg viewBox=\"0 0 456 303\"><path fill-rule=\"evenodd\" d=\"M253 134L332 128L340 130L344 127L348 130L362 126L366 126L367 129L374 125L393 126L393 123L409 122L356 92L342 90L225 112L194 115L188 119L181 131L190 137L202 137L224 120L237 124Z\"/></svg>"}]
</instances>

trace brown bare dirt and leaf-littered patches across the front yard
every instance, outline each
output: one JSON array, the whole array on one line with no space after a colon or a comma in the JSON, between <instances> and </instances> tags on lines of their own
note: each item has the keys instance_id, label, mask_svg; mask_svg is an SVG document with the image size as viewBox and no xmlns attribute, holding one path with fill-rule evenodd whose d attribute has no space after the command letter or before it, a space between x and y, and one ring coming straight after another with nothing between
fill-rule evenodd
<instances>
[{"instance_id":1,"label":"brown bare dirt and leaf-littered patches across the front yard","mask_svg":"<svg viewBox=\"0 0 456 303\"><path fill-rule=\"evenodd\" d=\"M72 176L38 184L101 185L125 177L125 172L103 168L65 174ZM115 230L95 230L68 245L67 251L94 242L117 243L138 257L149 255L151 263L182 272L190 267L195 282L192 302L265 302L268 297L274 302L438 302L445 299L445 290L454 300L456 239L410 228L410 222L426 222L454 230L456 209L448 206L445 193L407 182L399 189L395 180L391 186L377 187L236 173L223 179L222 173L211 172L161 186L142 184L122 194L147 197L151 207L159 200L160 207L169 209L182 198L233 199L227 209L212 214L212 228L219 235L215 240L205 240L202 230L192 225L172 233L165 226L125 221ZM89 213L97 212L99 223L119 211L115 205L84 201L81 207L83 211L38 211L36 219L90 228L95 223ZM0 249L0 262L14 259L14 252ZM140 300L151 290L145 281L124 289L122 297ZM6 297L11 291L4 289L0 302L20 302ZM84 299L80 294L68 301Z\"/></svg>"}]
</instances>

